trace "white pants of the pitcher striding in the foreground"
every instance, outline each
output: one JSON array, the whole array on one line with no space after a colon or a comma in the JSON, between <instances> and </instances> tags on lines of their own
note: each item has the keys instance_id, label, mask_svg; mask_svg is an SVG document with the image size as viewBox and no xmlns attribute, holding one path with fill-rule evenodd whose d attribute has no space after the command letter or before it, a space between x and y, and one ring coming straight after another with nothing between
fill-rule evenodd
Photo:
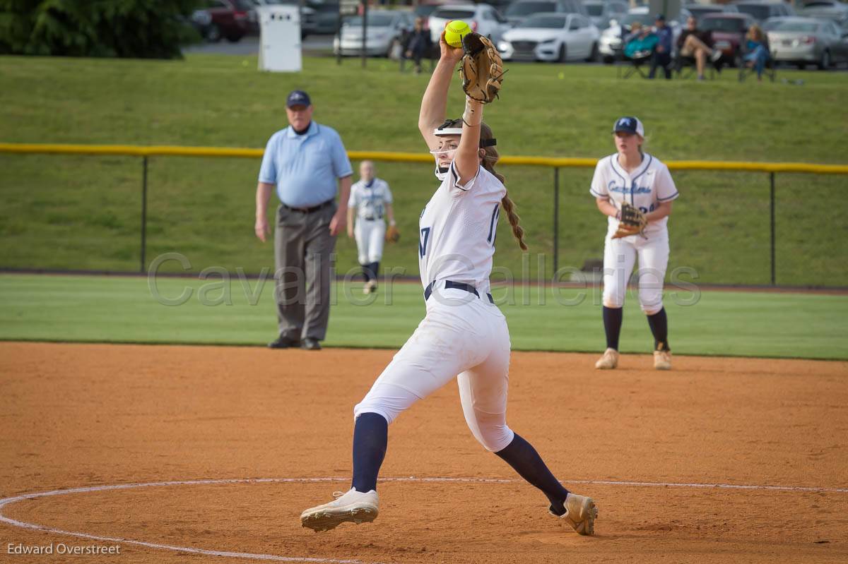
<instances>
[{"instance_id":1,"label":"white pants of the pitcher striding in the foreground","mask_svg":"<svg viewBox=\"0 0 848 564\"><path fill-rule=\"evenodd\" d=\"M427 315L354 407L392 423L416 401L456 378L471 434L488 451L501 451L515 434L506 426L510 332L486 294L433 290Z\"/></svg>"}]
</instances>

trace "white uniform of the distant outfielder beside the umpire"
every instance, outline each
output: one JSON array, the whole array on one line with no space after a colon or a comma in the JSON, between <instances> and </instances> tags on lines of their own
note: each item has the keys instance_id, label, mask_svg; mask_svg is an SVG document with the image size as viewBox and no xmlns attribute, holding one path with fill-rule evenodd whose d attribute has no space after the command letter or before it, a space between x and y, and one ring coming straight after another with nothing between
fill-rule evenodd
<instances>
[{"instance_id":1,"label":"white uniform of the distant outfielder beside the umpire","mask_svg":"<svg viewBox=\"0 0 848 564\"><path fill-rule=\"evenodd\" d=\"M350 187L349 207L356 207L354 237L359 250L360 264L378 263L386 235L386 222L382 216L386 204L392 203L388 183L378 178L365 183L360 180Z\"/></svg>"}]
</instances>

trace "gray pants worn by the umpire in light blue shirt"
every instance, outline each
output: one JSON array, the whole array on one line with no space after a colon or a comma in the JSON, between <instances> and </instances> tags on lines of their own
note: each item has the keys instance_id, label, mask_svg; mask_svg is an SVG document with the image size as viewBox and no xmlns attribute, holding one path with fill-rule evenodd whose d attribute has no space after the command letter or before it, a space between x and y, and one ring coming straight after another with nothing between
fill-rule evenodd
<instances>
[{"instance_id":1,"label":"gray pants worn by the umpire in light blue shirt","mask_svg":"<svg viewBox=\"0 0 848 564\"><path fill-rule=\"evenodd\" d=\"M337 206L313 213L276 210L274 259L280 335L324 340L330 318L330 254L336 237L330 220Z\"/></svg>"}]
</instances>

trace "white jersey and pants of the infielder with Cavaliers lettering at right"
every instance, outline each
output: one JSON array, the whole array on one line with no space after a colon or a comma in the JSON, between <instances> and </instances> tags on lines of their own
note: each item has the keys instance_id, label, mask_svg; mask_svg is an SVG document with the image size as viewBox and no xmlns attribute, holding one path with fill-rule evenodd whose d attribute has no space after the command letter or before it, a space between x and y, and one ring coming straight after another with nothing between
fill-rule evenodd
<instances>
[{"instance_id":1,"label":"white jersey and pants of the infielder with Cavaliers lettering at right","mask_svg":"<svg viewBox=\"0 0 848 564\"><path fill-rule=\"evenodd\" d=\"M619 209L622 202L639 207L642 213L656 209L661 202L679 196L668 167L647 153L632 174L622 169L618 154L598 161L594 169L592 196L609 198ZM612 239L618 220L609 218L604 244L604 305L622 307L628 279L639 257L639 304L642 311L653 315L662 309L662 285L668 266L668 217L651 222L644 234Z\"/></svg>"}]
</instances>

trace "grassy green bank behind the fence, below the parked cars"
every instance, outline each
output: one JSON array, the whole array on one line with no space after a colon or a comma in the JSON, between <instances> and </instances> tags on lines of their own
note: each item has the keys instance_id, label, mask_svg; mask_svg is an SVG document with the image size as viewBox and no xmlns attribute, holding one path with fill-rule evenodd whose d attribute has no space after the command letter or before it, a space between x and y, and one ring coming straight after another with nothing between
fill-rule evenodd
<instances>
[{"instance_id":1,"label":"grassy green bank behind the fence, below the parked cars","mask_svg":"<svg viewBox=\"0 0 848 564\"><path fill-rule=\"evenodd\" d=\"M184 61L0 58L0 141L263 147L286 125L287 91L305 88L315 119L350 150L424 152L416 119L426 75L394 64L307 58L295 75L256 71L255 58L194 55ZM561 78L562 77L562 78ZM779 78L803 79L803 86ZM486 119L506 155L599 158L613 151L616 117L637 114L648 150L663 159L848 163L848 73L781 70L777 83L617 80L611 67L510 65L504 97ZM460 113L460 88L449 111ZM357 163L354 163L354 167ZM259 162L153 158L149 176L148 261L181 252L195 272L209 266L259 272L271 248L253 235ZM141 163L137 158L0 154L0 268L131 271L139 263ZM533 276L552 274L550 169L502 170L519 206ZM434 186L431 169L378 164L392 185L404 234L384 257L415 275L416 221ZM588 194L589 169L561 171L560 265L602 256L605 222ZM674 268L700 282L768 284L766 174L679 172L671 218ZM778 285L845 285L848 180L778 174ZM501 222L496 263L522 268ZM353 241L338 241L338 269L355 266ZM539 256L544 268L539 268Z\"/></svg>"}]
</instances>

